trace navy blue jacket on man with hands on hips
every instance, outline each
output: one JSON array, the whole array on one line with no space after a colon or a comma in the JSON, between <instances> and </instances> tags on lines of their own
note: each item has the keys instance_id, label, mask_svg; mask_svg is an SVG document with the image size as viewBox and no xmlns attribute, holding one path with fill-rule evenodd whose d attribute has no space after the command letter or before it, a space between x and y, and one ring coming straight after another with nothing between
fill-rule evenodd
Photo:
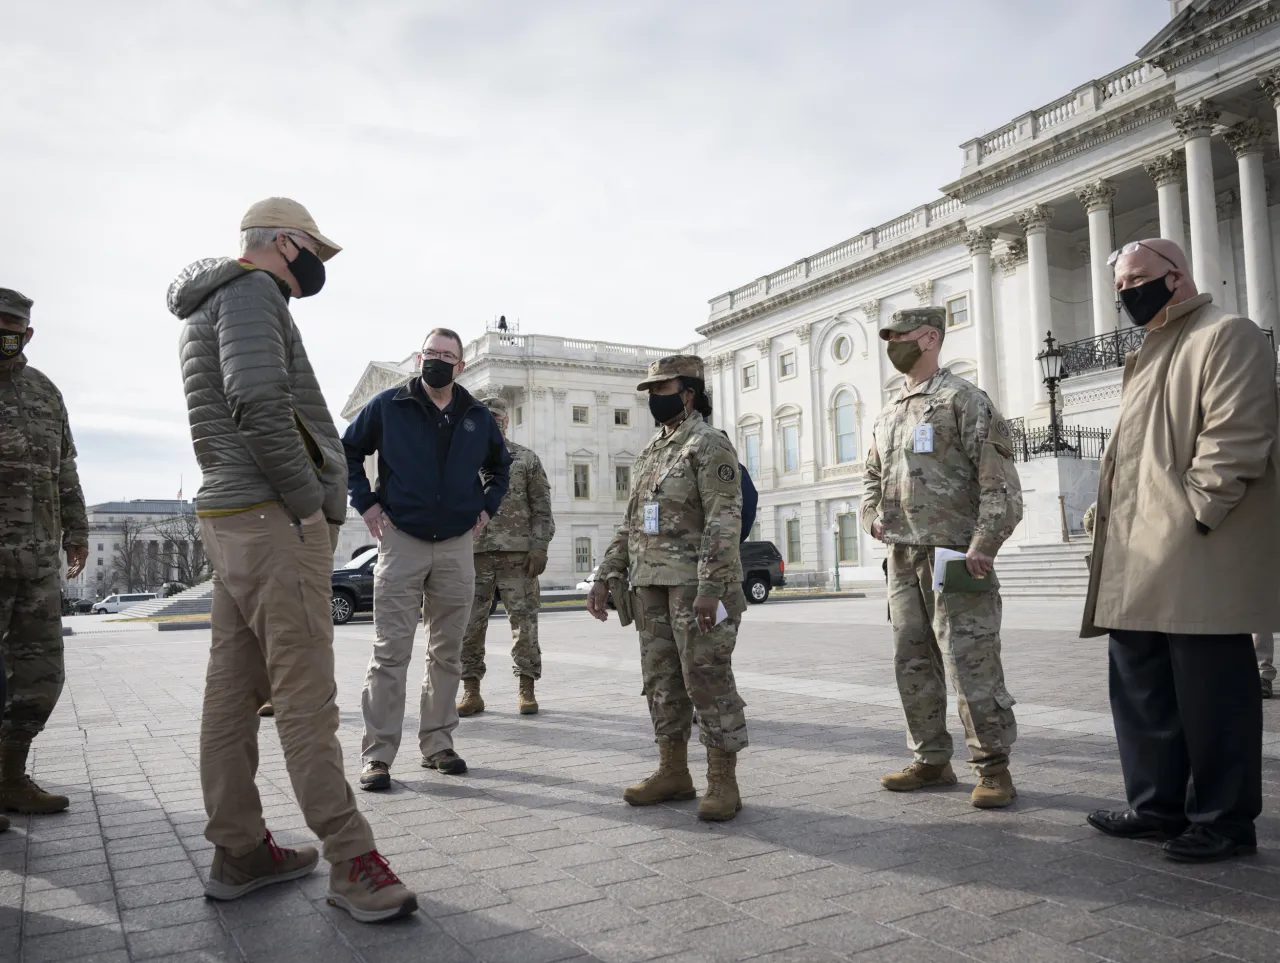
<instances>
[{"instance_id":1,"label":"navy blue jacket on man with hands on hips","mask_svg":"<svg viewBox=\"0 0 1280 963\"><path fill-rule=\"evenodd\" d=\"M461 384L453 385L453 441L444 473L436 429L421 384L375 396L347 426L347 490L356 511L381 505L392 524L413 538L443 542L470 530L481 511L498 514L511 478L511 453L498 423ZM378 453L378 490L365 458Z\"/></svg>"}]
</instances>

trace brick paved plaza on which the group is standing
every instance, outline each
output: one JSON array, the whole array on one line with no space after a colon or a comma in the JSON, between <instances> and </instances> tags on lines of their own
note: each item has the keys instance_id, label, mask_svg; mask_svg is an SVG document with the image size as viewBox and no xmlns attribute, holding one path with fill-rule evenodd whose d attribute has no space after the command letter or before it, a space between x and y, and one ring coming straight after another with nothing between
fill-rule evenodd
<instances>
[{"instance_id":1,"label":"brick paved plaza on which the group is standing","mask_svg":"<svg viewBox=\"0 0 1280 963\"><path fill-rule=\"evenodd\" d=\"M960 766L950 791L879 789L877 777L908 761L883 620L874 598L749 612L736 657L751 730L739 768L746 808L722 826L699 823L696 803L621 800L655 756L630 629L544 616L543 713L521 717L497 620L489 711L458 732L471 772L420 770L410 736L393 791L357 793L421 903L383 926L328 907L323 871L206 902L197 731L207 631L72 636L67 692L35 756L36 777L69 793L72 809L18 817L0 836L0 959L1280 959L1280 707L1266 708L1260 854L1184 867L1084 823L1088 809L1120 803L1121 784L1105 642L1074 638L1076 606L1007 603L1021 738L1020 795L1004 812L968 805L973 777ZM352 777L371 638L367 622L338 630ZM416 731L412 707L406 725ZM312 841L270 721L261 744L270 827L287 844ZM690 757L701 788L700 747Z\"/></svg>"}]
</instances>

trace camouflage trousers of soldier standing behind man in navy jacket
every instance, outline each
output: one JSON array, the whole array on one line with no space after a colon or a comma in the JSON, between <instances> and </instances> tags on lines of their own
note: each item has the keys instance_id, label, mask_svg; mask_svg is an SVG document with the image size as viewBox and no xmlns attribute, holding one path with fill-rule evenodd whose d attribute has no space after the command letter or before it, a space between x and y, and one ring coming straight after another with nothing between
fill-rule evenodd
<instances>
[{"instance_id":1,"label":"camouflage trousers of soldier standing behind man in navy jacket","mask_svg":"<svg viewBox=\"0 0 1280 963\"><path fill-rule=\"evenodd\" d=\"M525 575L527 552L479 552L476 590L471 621L462 636L462 677L484 679L484 643L489 631L489 608L494 588L511 621L511 661L517 676L543 677L543 651L538 645L538 610L541 590L538 579Z\"/></svg>"}]
</instances>

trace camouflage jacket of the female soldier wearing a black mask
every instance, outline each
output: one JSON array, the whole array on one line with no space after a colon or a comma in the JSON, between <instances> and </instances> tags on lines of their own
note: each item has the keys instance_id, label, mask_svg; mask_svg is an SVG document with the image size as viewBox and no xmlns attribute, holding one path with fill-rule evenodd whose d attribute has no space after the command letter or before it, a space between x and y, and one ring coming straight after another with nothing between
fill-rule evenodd
<instances>
[{"instance_id":1,"label":"camouflage jacket of the female soldier wearing a black mask","mask_svg":"<svg viewBox=\"0 0 1280 963\"><path fill-rule=\"evenodd\" d=\"M742 581L742 485L737 452L699 414L663 429L632 469L631 498L599 579L626 575L632 585L692 585L724 598ZM645 533L646 514L657 534Z\"/></svg>"}]
</instances>

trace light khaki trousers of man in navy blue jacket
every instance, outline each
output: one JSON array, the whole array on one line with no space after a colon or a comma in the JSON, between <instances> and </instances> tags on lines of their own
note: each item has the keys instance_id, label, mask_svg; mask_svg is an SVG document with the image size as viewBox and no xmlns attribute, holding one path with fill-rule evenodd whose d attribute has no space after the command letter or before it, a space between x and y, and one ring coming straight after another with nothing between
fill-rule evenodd
<instances>
[{"instance_id":1,"label":"light khaki trousers of man in navy blue jacket","mask_svg":"<svg viewBox=\"0 0 1280 963\"><path fill-rule=\"evenodd\" d=\"M472 544L470 531L445 542L424 542L393 528L383 534L374 569L374 656L361 698L366 763L390 766L399 752L408 663L420 616L426 625L426 668L419 747L424 757L453 748L462 634L476 579Z\"/></svg>"}]
</instances>

